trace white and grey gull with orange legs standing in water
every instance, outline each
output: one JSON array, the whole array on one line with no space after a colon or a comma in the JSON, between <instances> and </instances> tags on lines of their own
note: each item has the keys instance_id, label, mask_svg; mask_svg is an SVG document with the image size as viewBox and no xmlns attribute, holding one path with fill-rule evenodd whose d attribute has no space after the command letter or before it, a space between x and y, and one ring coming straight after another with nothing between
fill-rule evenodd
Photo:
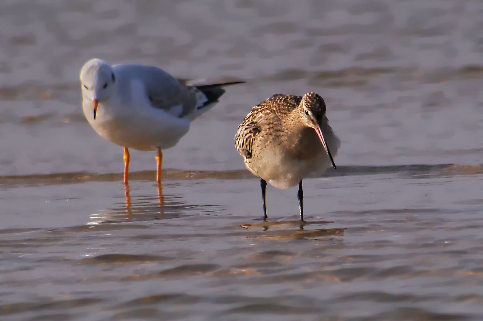
<instances>
[{"instance_id":1,"label":"white and grey gull with orange legs standing in water","mask_svg":"<svg viewBox=\"0 0 483 321\"><path fill-rule=\"evenodd\" d=\"M90 126L124 148L124 183L128 183L129 148L156 151L156 181L161 182L162 150L188 132L192 120L209 110L225 90L244 82L185 85L154 66L118 64L100 59L80 73L82 108Z\"/></svg>"}]
</instances>

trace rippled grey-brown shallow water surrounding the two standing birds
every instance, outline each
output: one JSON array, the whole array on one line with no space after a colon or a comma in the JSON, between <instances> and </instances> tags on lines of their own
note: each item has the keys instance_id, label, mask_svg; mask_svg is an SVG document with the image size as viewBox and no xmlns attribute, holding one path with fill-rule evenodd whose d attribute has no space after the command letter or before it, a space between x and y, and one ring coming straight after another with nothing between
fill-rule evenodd
<instances>
[{"instance_id":1,"label":"rippled grey-brown shallow water surrounding the two standing birds","mask_svg":"<svg viewBox=\"0 0 483 321\"><path fill-rule=\"evenodd\" d=\"M1 320L482 320L483 3L0 4ZM164 153L88 126L90 57L244 79ZM272 94L317 91L338 170L259 182L233 144Z\"/></svg>"}]
</instances>

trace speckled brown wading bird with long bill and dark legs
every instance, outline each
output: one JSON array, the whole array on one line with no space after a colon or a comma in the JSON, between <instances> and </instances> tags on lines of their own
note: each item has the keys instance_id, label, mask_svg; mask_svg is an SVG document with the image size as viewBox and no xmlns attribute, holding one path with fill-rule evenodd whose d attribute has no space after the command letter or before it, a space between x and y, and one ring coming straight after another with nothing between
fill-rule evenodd
<instances>
[{"instance_id":1,"label":"speckled brown wading bird with long bill and dark legs","mask_svg":"<svg viewBox=\"0 0 483 321\"><path fill-rule=\"evenodd\" d=\"M235 147L248 170L260 178L265 219L267 181L279 189L298 184L303 221L302 180L337 168L333 157L341 142L326 110L324 99L314 92L303 97L277 94L253 107L238 126Z\"/></svg>"}]
</instances>

